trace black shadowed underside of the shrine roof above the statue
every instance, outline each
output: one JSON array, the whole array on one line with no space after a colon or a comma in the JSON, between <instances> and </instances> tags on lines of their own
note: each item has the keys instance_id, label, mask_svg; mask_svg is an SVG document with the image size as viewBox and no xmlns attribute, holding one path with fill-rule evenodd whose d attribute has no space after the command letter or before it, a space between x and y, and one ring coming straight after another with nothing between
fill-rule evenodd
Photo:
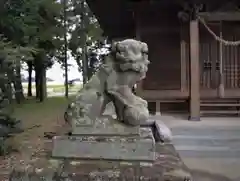
<instances>
[{"instance_id":1,"label":"black shadowed underside of the shrine roof above the statue","mask_svg":"<svg viewBox=\"0 0 240 181\"><path fill-rule=\"evenodd\" d=\"M228 0L184 0L185 2L206 3L218 9ZM181 6L181 0L87 0L87 3L98 19L104 34L110 38L126 38L135 36L134 11L148 16L147 11L171 11L173 5ZM141 4L139 6L139 4ZM139 8L140 7L140 8ZM166 8L167 7L167 8ZM140 9L140 10L139 10Z\"/></svg>"}]
</instances>

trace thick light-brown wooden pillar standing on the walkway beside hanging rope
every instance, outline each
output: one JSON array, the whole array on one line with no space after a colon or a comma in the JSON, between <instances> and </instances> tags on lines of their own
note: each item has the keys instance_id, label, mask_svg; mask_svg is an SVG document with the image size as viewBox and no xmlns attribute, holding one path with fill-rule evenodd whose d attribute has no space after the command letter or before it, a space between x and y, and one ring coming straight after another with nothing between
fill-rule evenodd
<instances>
[{"instance_id":1,"label":"thick light-brown wooden pillar standing on the walkway beside hanging rope","mask_svg":"<svg viewBox=\"0 0 240 181\"><path fill-rule=\"evenodd\" d=\"M199 22L190 22L190 116L200 121Z\"/></svg>"}]
</instances>

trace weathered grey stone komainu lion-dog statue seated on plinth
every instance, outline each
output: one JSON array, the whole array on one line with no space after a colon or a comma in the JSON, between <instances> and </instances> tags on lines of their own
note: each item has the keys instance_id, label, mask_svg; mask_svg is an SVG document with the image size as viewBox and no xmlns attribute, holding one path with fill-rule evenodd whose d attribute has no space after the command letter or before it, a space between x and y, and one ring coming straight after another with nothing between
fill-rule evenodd
<instances>
[{"instance_id":1,"label":"weathered grey stone komainu lion-dog statue seated on plinth","mask_svg":"<svg viewBox=\"0 0 240 181\"><path fill-rule=\"evenodd\" d=\"M109 102L113 102L118 121L132 126L146 121L147 102L134 95L132 88L145 78L148 64L146 43L133 39L113 43L99 71L68 106L66 121L75 125L97 121Z\"/></svg>"}]
</instances>

